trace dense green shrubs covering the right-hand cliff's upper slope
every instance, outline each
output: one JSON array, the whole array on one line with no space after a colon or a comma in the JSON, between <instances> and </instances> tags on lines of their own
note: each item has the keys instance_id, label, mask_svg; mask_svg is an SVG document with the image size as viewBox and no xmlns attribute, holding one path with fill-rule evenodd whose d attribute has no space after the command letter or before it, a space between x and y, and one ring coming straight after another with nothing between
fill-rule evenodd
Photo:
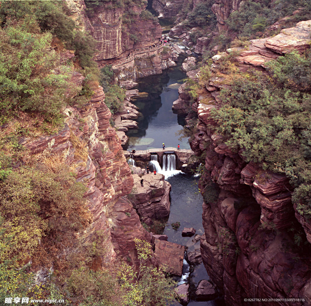
<instances>
[{"instance_id":1,"label":"dense green shrubs covering the right-hand cliff's upper slope","mask_svg":"<svg viewBox=\"0 0 311 306\"><path fill-rule=\"evenodd\" d=\"M234 151L246 161L283 173L293 188L298 211L311 216L311 95L309 52L286 54L260 72L230 75L230 89L221 90L220 108L211 116Z\"/></svg>"}]
</instances>

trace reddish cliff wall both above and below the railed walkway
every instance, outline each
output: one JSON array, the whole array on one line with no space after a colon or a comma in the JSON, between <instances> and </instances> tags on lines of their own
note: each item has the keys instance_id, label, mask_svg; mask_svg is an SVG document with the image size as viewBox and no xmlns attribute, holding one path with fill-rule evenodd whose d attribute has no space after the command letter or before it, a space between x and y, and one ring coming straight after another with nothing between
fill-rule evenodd
<instances>
[{"instance_id":1,"label":"reddish cliff wall both above and below the railed walkway","mask_svg":"<svg viewBox=\"0 0 311 306\"><path fill-rule=\"evenodd\" d=\"M88 6L84 1L67 0L71 17L96 40L96 63L113 63L126 58L132 50L158 44L162 29L155 17L146 11L144 1L100 1ZM118 66L117 81L131 80L162 73L175 66L173 56L162 49L136 56L135 61Z\"/></svg>"}]
</instances>

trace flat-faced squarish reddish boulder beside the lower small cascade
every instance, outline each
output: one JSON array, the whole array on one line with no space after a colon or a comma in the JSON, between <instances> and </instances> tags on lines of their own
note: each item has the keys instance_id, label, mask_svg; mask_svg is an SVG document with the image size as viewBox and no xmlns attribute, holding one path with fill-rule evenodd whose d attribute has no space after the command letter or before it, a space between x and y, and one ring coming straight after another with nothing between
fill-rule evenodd
<instances>
[{"instance_id":1,"label":"flat-faced squarish reddish boulder beside the lower small cascade","mask_svg":"<svg viewBox=\"0 0 311 306\"><path fill-rule=\"evenodd\" d=\"M155 239L155 256L164 271L181 276L183 273L183 245Z\"/></svg>"}]
</instances>

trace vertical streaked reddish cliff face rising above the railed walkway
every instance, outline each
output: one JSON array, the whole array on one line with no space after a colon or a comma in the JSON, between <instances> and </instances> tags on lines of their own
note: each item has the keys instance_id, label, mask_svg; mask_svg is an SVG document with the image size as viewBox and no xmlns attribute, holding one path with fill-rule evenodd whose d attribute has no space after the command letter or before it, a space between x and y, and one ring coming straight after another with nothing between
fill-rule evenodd
<instances>
[{"instance_id":1,"label":"vertical streaked reddish cliff face rising above the railed walkway","mask_svg":"<svg viewBox=\"0 0 311 306\"><path fill-rule=\"evenodd\" d=\"M103 1L93 7L93 12L87 12L91 24L87 30L96 39L96 49L99 50L97 60L126 57L126 51L148 47L161 35L158 22L140 16L144 8L134 3L125 7L117 4L114 1ZM129 17L133 20L131 23L127 23L126 18ZM136 35L137 39L131 39L131 34Z\"/></svg>"}]
</instances>

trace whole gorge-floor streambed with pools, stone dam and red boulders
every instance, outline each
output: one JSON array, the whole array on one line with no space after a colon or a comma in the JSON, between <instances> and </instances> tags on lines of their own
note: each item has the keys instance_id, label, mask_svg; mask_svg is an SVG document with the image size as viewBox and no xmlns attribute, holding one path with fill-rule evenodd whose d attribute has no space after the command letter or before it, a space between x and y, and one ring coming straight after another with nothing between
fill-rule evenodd
<instances>
[{"instance_id":1,"label":"whole gorge-floor streambed with pools, stone dam and red boulders","mask_svg":"<svg viewBox=\"0 0 311 306\"><path fill-rule=\"evenodd\" d=\"M182 304L221 306L225 305L224 301L216 288L208 282L209 276L201 259L200 238L204 233L203 198L197 186L198 177L181 171L171 176L165 171L156 175L146 174L144 169L154 153L157 153L159 166L163 166L163 152L155 151L161 149L154 149L161 148L163 142L166 147L173 147L168 149L175 152L176 169L183 169L182 166L193 154L188 143L178 140L179 135L175 135L175 132L185 125L185 121L182 115L172 111L173 102L178 99L181 80L186 77L187 69L182 69L184 59L185 56L179 56L177 66L169 68L162 75L149 76L137 81L139 92L147 95L139 95L136 92L136 96L131 99L130 103L137 107L140 115L130 119L133 122L137 121L138 128L125 132L129 142L123 146L128 151L123 152L129 158L129 151L137 150L131 155L138 167L132 167L134 192L131 201L142 222L152 227L154 220L168 218L165 219L167 221L163 236L153 235L151 241L158 262L170 267L167 272L181 285L179 294L186 293L187 297L181 299ZM129 117L132 113L134 114L130 110ZM127 118L127 114L124 116ZM178 144L182 148L180 151L177 151ZM143 186L141 179L144 180ZM172 226L174 224L177 226ZM194 228L196 232L183 235L184 228ZM207 302L208 300L211 301ZM173 305L180 304L176 302Z\"/></svg>"}]
</instances>

